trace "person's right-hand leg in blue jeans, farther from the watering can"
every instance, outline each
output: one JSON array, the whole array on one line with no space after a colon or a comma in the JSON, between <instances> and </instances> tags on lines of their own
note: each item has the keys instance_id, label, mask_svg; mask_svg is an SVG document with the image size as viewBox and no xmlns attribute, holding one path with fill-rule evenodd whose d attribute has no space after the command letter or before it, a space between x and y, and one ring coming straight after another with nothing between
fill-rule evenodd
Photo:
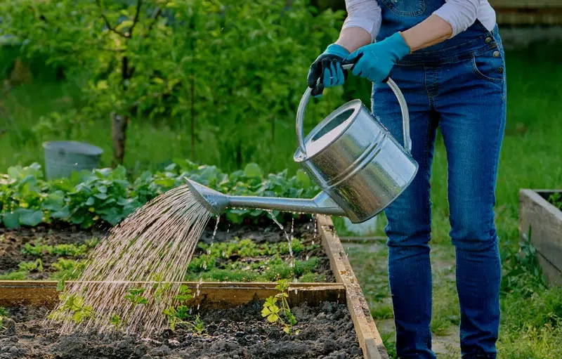
<instances>
[{"instance_id":1,"label":"person's right-hand leg in blue jeans, farther from the watering can","mask_svg":"<svg viewBox=\"0 0 562 359\"><path fill-rule=\"evenodd\" d=\"M506 118L501 46L439 70L448 162L450 236L457 255L462 358L495 358L502 277L495 183Z\"/></svg>"}]
</instances>

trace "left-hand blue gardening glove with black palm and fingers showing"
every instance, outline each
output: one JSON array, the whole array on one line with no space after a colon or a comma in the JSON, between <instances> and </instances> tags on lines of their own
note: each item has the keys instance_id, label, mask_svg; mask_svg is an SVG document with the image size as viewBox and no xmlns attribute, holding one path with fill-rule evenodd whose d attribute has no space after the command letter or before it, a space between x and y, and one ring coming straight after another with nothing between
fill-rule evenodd
<instances>
[{"instance_id":1,"label":"left-hand blue gardening glove with black palm and fingers showing","mask_svg":"<svg viewBox=\"0 0 562 359\"><path fill-rule=\"evenodd\" d=\"M341 68L341 61L349 55L349 51L338 44L329 45L311 65L308 70L308 87L312 90L312 96L322 95L325 87L342 85L347 79L347 70ZM320 79L320 84L316 82Z\"/></svg>"}]
</instances>

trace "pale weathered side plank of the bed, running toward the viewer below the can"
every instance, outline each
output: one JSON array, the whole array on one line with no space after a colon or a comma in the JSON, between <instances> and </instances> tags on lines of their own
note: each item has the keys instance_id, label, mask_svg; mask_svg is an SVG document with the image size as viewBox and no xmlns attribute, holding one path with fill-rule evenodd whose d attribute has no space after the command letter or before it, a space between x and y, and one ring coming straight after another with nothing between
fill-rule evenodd
<instances>
[{"instance_id":1,"label":"pale weathered side plank of the bed, running toward the viewer below the can","mask_svg":"<svg viewBox=\"0 0 562 359\"><path fill-rule=\"evenodd\" d=\"M336 276L336 281L346 287L347 307L359 344L366 359L388 359L388 353L372 318L369 306L360 288L353 268L349 263L344 247L334 229L334 223L329 216L318 216L318 231L322 237L322 246L328 255L330 266Z\"/></svg>"}]
</instances>

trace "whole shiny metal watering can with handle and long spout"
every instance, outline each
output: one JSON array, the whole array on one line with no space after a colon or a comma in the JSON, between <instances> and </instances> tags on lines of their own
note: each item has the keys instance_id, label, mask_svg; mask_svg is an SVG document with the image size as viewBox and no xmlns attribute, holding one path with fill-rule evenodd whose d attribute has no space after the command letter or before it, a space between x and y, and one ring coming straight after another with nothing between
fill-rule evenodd
<instances>
[{"instance_id":1,"label":"whole shiny metal watering can with handle and long spout","mask_svg":"<svg viewBox=\"0 0 562 359\"><path fill-rule=\"evenodd\" d=\"M351 66L344 65L344 69ZM352 223L369 220L396 200L418 170L410 155L406 101L392 79L388 78L386 84L400 104L405 148L361 100L339 107L303 139L304 112L312 91L307 87L296 112L299 148L294 161L322 188L313 199L230 196L188 179L190 191L216 215L227 207L244 207L346 216Z\"/></svg>"}]
</instances>

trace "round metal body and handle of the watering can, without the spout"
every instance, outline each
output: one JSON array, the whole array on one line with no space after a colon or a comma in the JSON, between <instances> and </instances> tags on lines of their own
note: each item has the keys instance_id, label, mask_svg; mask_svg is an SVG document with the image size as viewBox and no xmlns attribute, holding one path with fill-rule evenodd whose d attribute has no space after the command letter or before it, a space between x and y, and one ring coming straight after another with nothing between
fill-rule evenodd
<instances>
[{"instance_id":1,"label":"round metal body and handle of the watering can, without the spout","mask_svg":"<svg viewBox=\"0 0 562 359\"><path fill-rule=\"evenodd\" d=\"M403 116L405 148L363 105L351 100L303 138L307 91L297 112L299 148L294 161L343 209L352 223L379 214L412 183L418 164L410 155L410 123L405 100L391 79Z\"/></svg>"}]
</instances>

